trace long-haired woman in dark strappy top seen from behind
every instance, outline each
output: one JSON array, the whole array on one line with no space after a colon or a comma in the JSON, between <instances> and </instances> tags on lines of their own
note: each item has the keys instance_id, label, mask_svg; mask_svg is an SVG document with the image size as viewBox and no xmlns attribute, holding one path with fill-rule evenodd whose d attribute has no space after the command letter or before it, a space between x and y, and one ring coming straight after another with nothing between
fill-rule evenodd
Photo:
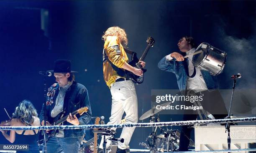
<instances>
[{"instance_id":1,"label":"long-haired woman in dark strappy top seen from behind","mask_svg":"<svg viewBox=\"0 0 256 153\"><path fill-rule=\"evenodd\" d=\"M40 126L36 109L31 101L23 100L20 102L13 113L10 126ZM10 143L29 145L28 151L17 151L16 153L39 153L36 142L38 130L11 130L10 135L7 131L1 130L1 132Z\"/></svg>"}]
</instances>

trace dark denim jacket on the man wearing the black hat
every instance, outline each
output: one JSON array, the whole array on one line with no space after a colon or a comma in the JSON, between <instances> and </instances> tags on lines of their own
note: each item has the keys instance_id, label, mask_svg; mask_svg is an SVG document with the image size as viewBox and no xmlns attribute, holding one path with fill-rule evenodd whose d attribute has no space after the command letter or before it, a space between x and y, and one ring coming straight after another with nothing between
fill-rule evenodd
<instances>
[{"instance_id":1,"label":"dark denim jacket on the man wearing the black hat","mask_svg":"<svg viewBox=\"0 0 256 153\"><path fill-rule=\"evenodd\" d=\"M46 121L49 121L50 123L53 123L54 121L59 120L60 113L55 118L51 117L51 111L55 106L55 100L57 95L59 94L59 90L56 90L56 93L54 95L54 103L52 105L46 106ZM64 116L67 116L69 113L72 113L73 111L76 111L77 109L87 106L88 111L84 112L81 116L77 114L77 118L79 121L79 125L84 125L90 122L92 117L92 110L91 105L89 101L88 91L87 89L82 85L77 83L76 81L73 81L73 84L67 89L66 95L64 98L64 104L63 104L63 111ZM44 112L45 104L42 106L42 110L40 113L40 123L44 120L45 112ZM73 125L67 121L63 122L63 125ZM83 129L72 129L72 130L64 130L64 137L79 137L84 135Z\"/></svg>"}]
</instances>

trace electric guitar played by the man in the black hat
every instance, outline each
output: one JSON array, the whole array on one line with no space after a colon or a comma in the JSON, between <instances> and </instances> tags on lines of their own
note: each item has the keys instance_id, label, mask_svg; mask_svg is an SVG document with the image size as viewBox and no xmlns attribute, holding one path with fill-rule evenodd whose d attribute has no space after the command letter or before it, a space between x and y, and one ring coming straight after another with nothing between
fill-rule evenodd
<instances>
[{"instance_id":1,"label":"electric guitar played by the man in the black hat","mask_svg":"<svg viewBox=\"0 0 256 153\"><path fill-rule=\"evenodd\" d=\"M82 115L84 112L88 111L88 107L82 107L74 112L71 113L72 116L79 114ZM67 121L67 116L62 117L61 119L55 121L54 123L51 124L51 126L56 126L56 125L60 125L61 123L63 123L64 121ZM49 140L50 137L56 136L59 133L59 130L50 130L48 131L48 133L46 133L46 142ZM44 143L44 130L40 130L39 134L38 134L38 141L37 141L38 145L42 145Z\"/></svg>"}]
</instances>

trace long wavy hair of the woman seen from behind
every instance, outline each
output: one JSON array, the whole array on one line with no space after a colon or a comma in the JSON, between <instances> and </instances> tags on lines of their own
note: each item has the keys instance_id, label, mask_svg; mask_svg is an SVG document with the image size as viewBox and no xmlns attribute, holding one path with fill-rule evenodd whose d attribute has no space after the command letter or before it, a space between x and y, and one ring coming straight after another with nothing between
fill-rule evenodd
<instances>
[{"instance_id":1,"label":"long wavy hair of the woman seen from behind","mask_svg":"<svg viewBox=\"0 0 256 153\"><path fill-rule=\"evenodd\" d=\"M21 123L26 126L34 122L33 116L37 116L36 109L31 101L26 99L20 102L13 113L13 118L20 119Z\"/></svg>"}]
</instances>

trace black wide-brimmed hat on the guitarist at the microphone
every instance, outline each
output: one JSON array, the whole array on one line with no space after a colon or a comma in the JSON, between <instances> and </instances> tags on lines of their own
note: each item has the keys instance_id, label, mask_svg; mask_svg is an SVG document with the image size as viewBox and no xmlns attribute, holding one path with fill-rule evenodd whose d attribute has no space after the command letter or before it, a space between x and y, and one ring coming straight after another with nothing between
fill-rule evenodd
<instances>
[{"instance_id":1,"label":"black wide-brimmed hat on the guitarist at the microphone","mask_svg":"<svg viewBox=\"0 0 256 153\"><path fill-rule=\"evenodd\" d=\"M53 73L75 73L76 71L71 71L71 61L67 59L57 59L54 62L54 69L47 72Z\"/></svg>"}]
</instances>

